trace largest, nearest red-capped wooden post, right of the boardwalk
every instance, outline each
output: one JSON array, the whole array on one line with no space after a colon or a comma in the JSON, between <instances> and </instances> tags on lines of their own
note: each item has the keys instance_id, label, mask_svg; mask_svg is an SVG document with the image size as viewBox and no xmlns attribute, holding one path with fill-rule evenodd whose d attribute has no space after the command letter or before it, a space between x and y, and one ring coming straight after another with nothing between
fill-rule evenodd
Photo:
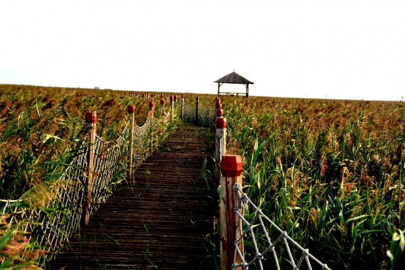
<instances>
[{"instance_id":1,"label":"largest, nearest red-capped wooden post, right of the boardwalk","mask_svg":"<svg viewBox=\"0 0 405 270\"><path fill-rule=\"evenodd\" d=\"M220 118L218 118L220 119ZM235 251L235 233L239 232L236 228L235 216L233 212L233 184L242 186L242 159L237 155L224 155L221 161L221 270L231 269L233 255ZM240 237L239 233L237 238ZM241 243L239 242L239 249ZM240 263L240 257L236 253L236 263ZM236 269L241 269L238 267Z\"/></svg>"}]
</instances>

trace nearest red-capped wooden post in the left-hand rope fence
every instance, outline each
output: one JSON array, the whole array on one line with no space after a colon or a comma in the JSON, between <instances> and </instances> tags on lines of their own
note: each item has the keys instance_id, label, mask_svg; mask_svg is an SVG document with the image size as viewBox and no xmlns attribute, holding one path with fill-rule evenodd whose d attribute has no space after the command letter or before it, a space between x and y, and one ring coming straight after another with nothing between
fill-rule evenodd
<instances>
[{"instance_id":1,"label":"nearest red-capped wooden post in the left-hand rope fence","mask_svg":"<svg viewBox=\"0 0 405 270\"><path fill-rule=\"evenodd\" d=\"M89 224L90 206L92 203L92 181L93 181L93 159L94 159L94 145L96 141L96 120L97 115L95 112L87 112L86 116L86 128L90 131L89 146L87 148L87 179L86 179L86 202L84 207L84 220L82 224Z\"/></svg>"}]
</instances>

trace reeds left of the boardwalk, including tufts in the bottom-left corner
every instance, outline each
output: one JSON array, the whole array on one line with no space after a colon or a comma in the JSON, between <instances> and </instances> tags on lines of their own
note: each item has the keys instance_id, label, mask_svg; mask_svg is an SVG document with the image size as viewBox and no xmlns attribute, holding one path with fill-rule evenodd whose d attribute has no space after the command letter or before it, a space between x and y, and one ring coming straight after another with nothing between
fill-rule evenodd
<instances>
[{"instance_id":1,"label":"reeds left of the boardwalk, including tufts in the bottom-left corner","mask_svg":"<svg viewBox=\"0 0 405 270\"><path fill-rule=\"evenodd\" d=\"M96 134L111 142L124 130L127 106L135 105L135 121L143 125L147 120L148 102L146 98L136 99L128 93L113 91L0 85L0 199L22 199L13 205L28 212L35 209L37 213L29 220L17 221L7 212L2 215L0 268L38 268L46 263L44 255L54 252L49 246L33 246L31 243L35 241L29 239L41 237L42 229L38 226L45 224L46 227L55 215L64 223L72 214L69 208L61 207L60 201L61 193L70 189L72 183L63 181L60 176L88 136L85 113L97 112ZM154 117L154 146L158 146L174 125L161 121L164 117L158 111ZM103 151L106 149L102 149L101 155ZM125 156L118 163L118 172L111 181L125 175L128 169ZM55 230L52 233L66 236L63 230ZM95 234L96 243L97 239Z\"/></svg>"}]
</instances>

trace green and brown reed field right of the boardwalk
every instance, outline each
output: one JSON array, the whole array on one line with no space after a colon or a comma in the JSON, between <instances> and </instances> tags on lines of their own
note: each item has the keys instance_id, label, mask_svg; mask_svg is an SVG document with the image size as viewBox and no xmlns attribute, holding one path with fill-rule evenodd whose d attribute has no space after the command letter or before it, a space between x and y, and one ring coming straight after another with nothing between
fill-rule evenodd
<instances>
[{"instance_id":1,"label":"green and brown reed field right of the boardwalk","mask_svg":"<svg viewBox=\"0 0 405 270\"><path fill-rule=\"evenodd\" d=\"M242 156L244 191L277 226L331 268L393 266L387 251L395 263L405 230L403 102L220 98L227 154Z\"/></svg>"}]
</instances>

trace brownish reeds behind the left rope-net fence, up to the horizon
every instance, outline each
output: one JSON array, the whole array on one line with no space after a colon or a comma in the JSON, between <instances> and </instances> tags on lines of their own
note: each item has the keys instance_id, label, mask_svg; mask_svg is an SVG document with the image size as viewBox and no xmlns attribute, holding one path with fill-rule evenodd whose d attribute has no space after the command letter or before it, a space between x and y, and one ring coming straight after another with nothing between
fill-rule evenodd
<instances>
[{"instance_id":1,"label":"brownish reeds behind the left rope-net fence, up to the horizon","mask_svg":"<svg viewBox=\"0 0 405 270\"><path fill-rule=\"evenodd\" d=\"M97 113L99 137L113 141L123 130L127 106L143 124L147 99L113 91L0 85L0 198L18 199L30 187L50 181L85 137L85 114Z\"/></svg>"}]
</instances>

